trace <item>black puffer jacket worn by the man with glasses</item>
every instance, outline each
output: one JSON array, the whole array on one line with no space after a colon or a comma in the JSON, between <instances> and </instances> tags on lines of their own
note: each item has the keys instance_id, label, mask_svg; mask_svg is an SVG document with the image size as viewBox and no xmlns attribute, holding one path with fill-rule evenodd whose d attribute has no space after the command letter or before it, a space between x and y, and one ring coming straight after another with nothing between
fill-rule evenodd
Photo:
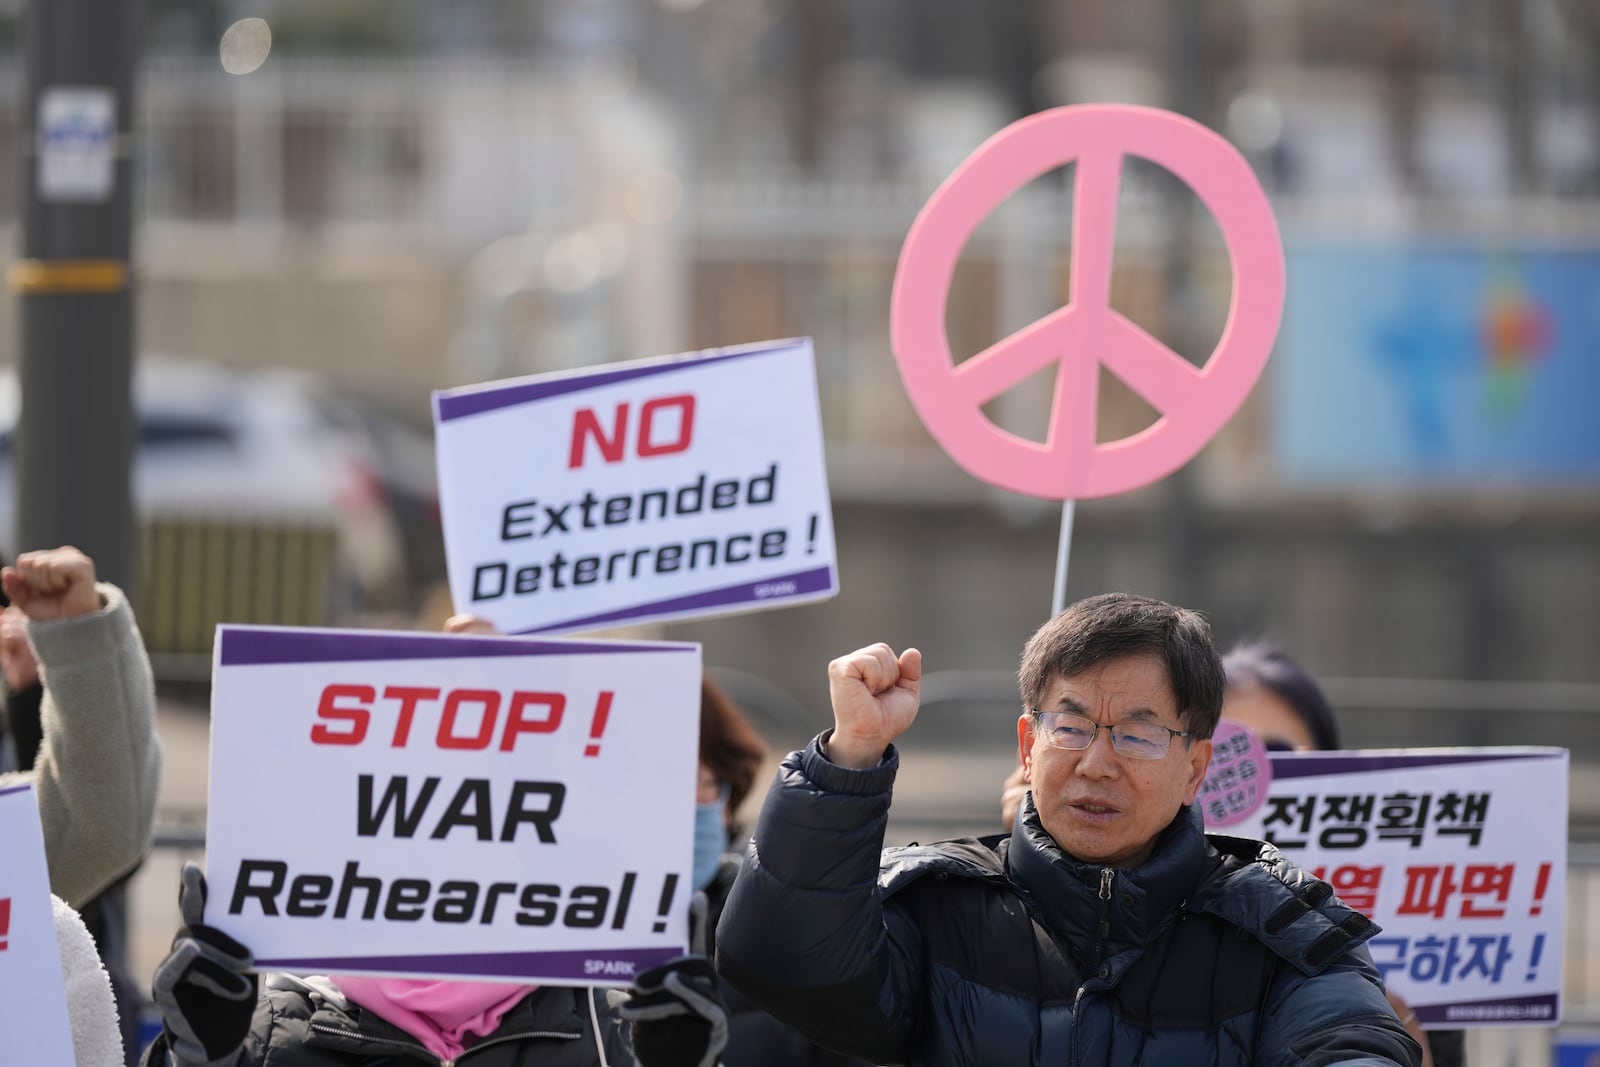
<instances>
[{"instance_id":1,"label":"black puffer jacket worn by the man with glasses","mask_svg":"<svg viewBox=\"0 0 1600 1067\"><path fill-rule=\"evenodd\" d=\"M898 757L784 761L717 966L814 1040L901 1064L1416 1064L1376 926L1270 845L1189 809L1141 867L1011 837L882 853Z\"/></svg>"}]
</instances>

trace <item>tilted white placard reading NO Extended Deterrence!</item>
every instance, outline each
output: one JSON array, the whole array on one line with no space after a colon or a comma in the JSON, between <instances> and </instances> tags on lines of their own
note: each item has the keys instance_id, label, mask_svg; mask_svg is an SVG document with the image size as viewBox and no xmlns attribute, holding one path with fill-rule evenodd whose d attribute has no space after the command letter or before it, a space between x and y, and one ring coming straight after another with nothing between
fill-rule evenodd
<instances>
[{"instance_id":1,"label":"tilted white placard reading NO Extended Deterrence!","mask_svg":"<svg viewBox=\"0 0 1600 1067\"><path fill-rule=\"evenodd\" d=\"M811 342L434 394L458 611L509 633L838 592Z\"/></svg>"}]
</instances>

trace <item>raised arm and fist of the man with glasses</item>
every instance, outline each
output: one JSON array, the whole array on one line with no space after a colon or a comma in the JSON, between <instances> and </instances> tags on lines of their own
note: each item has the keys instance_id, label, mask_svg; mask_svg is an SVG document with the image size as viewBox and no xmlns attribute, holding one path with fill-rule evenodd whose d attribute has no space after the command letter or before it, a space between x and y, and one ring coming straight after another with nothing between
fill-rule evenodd
<instances>
[{"instance_id":1,"label":"raised arm and fist of the man with glasses","mask_svg":"<svg viewBox=\"0 0 1600 1067\"><path fill-rule=\"evenodd\" d=\"M778 771L717 925L717 969L819 1045L872 1062L912 1053L922 936L878 893L899 755L922 656L874 645L829 664L832 736Z\"/></svg>"}]
</instances>

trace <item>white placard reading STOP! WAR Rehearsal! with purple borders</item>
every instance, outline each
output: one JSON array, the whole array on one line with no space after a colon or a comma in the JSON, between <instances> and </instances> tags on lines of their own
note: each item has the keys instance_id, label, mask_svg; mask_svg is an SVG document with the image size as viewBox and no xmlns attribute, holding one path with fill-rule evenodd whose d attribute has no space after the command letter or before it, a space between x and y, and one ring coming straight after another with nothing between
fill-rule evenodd
<instances>
[{"instance_id":1,"label":"white placard reading STOP! WAR Rehearsal! with purple borders","mask_svg":"<svg viewBox=\"0 0 1600 1067\"><path fill-rule=\"evenodd\" d=\"M627 984L688 944L698 645L218 627L206 923L264 971Z\"/></svg>"}]
</instances>

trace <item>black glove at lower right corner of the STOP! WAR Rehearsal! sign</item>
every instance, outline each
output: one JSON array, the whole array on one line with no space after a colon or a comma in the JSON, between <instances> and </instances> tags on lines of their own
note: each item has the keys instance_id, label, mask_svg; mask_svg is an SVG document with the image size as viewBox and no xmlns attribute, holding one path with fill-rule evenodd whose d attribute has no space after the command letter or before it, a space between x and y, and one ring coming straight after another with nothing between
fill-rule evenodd
<instances>
[{"instance_id":1,"label":"black glove at lower right corner of the STOP! WAR Rehearsal! sign","mask_svg":"<svg viewBox=\"0 0 1600 1067\"><path fill-rule=\"evenodd\" d=\"M618 1014L634 1024L640 1067L715 1067L728 1045L728 1008L706 957L678 957L634 979Z\"/></svg>"}]
</instances>

